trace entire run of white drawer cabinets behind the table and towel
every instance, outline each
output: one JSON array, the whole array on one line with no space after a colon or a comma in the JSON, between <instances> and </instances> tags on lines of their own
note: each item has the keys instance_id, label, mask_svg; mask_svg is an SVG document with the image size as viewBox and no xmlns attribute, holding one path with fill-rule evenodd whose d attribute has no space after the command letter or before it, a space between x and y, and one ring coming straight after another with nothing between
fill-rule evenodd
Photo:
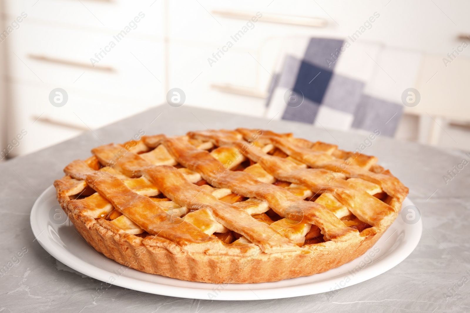
<instances>
[{"instance_id":1,"label":"entire run of white drawer cabinets behind the table and towel","mask_svg":"<svg viewBox=\"0 0 470 313\"><path fill-rule=\"evenodd\" d=\"M100 127L164 103L174 87L185 92L185 105L262 116L285 38L346 38L378 12L380 18L361 40L445 55L460 44L457 35L470 27L465 15L470 4L457 2L5 0L6 25L22 12L28 15L2 43L13 108L9 121L14 121L8 137L41 114L45 121L35 125L62 123L49 123L55 135L38 126L37 139L17 149L28 153L73 136L84 122ZM90 58L140 12L145 17L135 29L92 68ZM259 16L256 23L248 22L257 12L290 22L267 22ZM296 18L299 23L318 18L326 25L295 25ZM243 27L248 31L234 40ZM228 41L233 46L211 66L208 59ZM466 49L462 54L469 53ZM61 108L48 102L48 93L57 87L69 94L69 103ZM83 122L77 115L85 116Z\"/></svg>"}]
</instances>

